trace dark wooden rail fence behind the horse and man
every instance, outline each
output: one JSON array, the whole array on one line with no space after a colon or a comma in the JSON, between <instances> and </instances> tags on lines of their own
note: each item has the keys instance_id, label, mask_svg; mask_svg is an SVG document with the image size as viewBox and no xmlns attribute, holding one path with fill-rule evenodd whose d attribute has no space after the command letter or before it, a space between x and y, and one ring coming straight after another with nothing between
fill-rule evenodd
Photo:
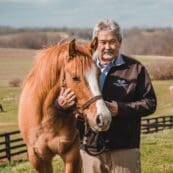
<instances>
[{"instance_id":1,"label":"dark wooden rail fence behind the horse and man","mask_svg":"<svg viewBox=\"0 0 173 173\"><path fill-rule=\"evenodd\" d=\"M173 128L173 115L142 119L141 133L148 134ZM11 161L13 156L26 153L19 131L0 134L0 161Z\"/></svg>"}]
</instances>

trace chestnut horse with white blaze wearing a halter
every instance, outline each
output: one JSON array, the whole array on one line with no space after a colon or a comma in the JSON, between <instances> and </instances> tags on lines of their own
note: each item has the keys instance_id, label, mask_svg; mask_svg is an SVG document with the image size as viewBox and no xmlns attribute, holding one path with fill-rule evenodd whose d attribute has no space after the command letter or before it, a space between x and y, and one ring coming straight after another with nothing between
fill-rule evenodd
<instances>
[{"instance_id":1,"label":"chestnut horse with white blaze wearing a halter","mask_svg":"<svg viewBox=\"0 0 173 173\"><path fill-rule=\"evenodd\" d=\"M52 173L52 159L59 155L65 173L81 172L80 139L76 114L94 131L109 128L111 113L98 85L98 70L92 59L98 41L76 43L75 39L40 50L26 77L19 101L19 129L27 145L28 159L38 173ZM60 111L55 100L61 87L76 95L72 110Z\"/></svg>"}]
</instances>

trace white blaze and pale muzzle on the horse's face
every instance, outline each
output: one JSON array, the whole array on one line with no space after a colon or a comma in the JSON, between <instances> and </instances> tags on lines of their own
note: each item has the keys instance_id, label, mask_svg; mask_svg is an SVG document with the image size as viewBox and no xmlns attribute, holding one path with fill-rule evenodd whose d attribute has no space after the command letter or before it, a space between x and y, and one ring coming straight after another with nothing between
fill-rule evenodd
<instances>
[{"instance_id":1,"label":"white blaze and pale muzzle on the horse's face","mask_svg":"<svg viewBox=\"0 0 173 173\"><path fill-rule=\"evenodd\" d=\"M94 96L101 95L98 81L97 81L97 67L95 65L87 71L85 78L88 82L90 90ZM105 131L109 128L110 122L112 120L111 113L106 107L103 99L96 101L97 116L95 120L92 120L93 117L87 117L89 124L93 130L96 131Z\"/></svg>"}]
</instances>

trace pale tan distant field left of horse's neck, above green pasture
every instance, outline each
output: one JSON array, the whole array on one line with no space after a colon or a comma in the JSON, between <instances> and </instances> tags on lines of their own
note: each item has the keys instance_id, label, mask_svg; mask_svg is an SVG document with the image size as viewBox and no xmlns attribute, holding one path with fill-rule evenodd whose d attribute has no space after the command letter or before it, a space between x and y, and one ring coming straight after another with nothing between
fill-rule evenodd
<instances>
[{"instance_id":1,"label":"pale tan distant field left of horse's neck, above green pasture","mask_svg":"<svg viewBox=\"0 0 173 173\"><path fill-rule=\"evenodd\" d=\"M0 48L0 86L8 86L9 81L23 79L29 71L35 50Z\"/></svg>"}]
</instances>

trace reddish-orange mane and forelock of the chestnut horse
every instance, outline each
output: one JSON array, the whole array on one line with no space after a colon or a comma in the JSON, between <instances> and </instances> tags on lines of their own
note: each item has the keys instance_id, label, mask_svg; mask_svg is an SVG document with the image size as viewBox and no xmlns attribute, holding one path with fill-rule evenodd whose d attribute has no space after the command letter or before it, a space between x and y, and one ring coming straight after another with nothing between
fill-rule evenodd
<instances>
[{"instance_id":1,"label":"reddish-orange mane and forelock of the chestnut horse","mask_svg":"<svg viewBox=\"0 0 173 173\"><path fill-rule=\"evenodd\" d=\"M60 70L68 56L68 50L69 42L66 41L41 50L35 57L34 66L28 74L24 86L27 85L30 89L42 94L50 91L59 82ZM75 58L77 67L84 69L91 66L91 60L88 58L91 55L86 47L77 45L75 56L83 57Z\"/></svg>"}]
</instances>

